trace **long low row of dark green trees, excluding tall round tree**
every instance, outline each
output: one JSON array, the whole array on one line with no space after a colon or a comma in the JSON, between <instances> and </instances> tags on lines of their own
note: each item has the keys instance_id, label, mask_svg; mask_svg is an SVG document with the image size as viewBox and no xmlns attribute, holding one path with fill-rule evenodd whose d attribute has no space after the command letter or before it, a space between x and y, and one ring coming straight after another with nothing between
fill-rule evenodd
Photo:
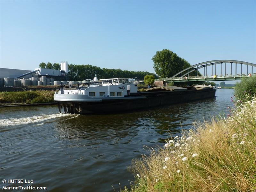
<instances>
[{"instance_id":1,"label":"long low row of dark green trees, excluding tall round tree","mask_svg":"<svg viewBox=\"0 0 256 192\"><path fill-rule=\"evenodd\" d=\"M59 63L40 63L40 68L47 69L56 69L60 70ZM148 71L128 71L121 69L108 69L108 68L100 68L92 65L68 65L68 80L69 81L81 81L84 79L93 79L95 76L98 79L106 79L106 78L130 78L137 77L138 80L143 80L144 76L153 75L157 78L157 75L154 73L150 73Z\"/></svg>"}]
</instances>

